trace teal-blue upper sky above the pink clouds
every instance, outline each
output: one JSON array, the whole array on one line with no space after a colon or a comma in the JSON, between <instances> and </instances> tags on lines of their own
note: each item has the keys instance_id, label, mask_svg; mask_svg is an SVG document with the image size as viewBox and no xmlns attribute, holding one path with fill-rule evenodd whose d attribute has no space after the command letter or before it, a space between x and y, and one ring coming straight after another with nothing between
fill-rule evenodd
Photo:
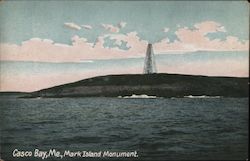
<instances>
[{"instance_id":1,"label":"teal-blue upper sky above the pink clouds","mask_svg":"<svg viewBox=\"0 0 250 161\"><path fill-rule=\"evenodd\" d=\"M150 42L166 35L175 39L181 27L212 20L225 26L227 34L248 39L248 3L244 1L7 1L0 5L1 42L21 43L32 37L70 43L75 34L89 41L103 33L101 23L127 22L121 32L137 31ZM89 24L94 30L69 31L65 22ZM161 33L168 27L169 33Z\"/></svg>"}]
</instances>

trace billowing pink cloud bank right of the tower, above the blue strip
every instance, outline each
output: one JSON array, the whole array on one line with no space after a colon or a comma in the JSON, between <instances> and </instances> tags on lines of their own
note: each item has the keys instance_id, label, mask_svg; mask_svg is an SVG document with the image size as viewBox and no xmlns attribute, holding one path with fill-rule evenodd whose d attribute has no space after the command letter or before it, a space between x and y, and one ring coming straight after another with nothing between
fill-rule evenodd
<instances>
[{"instance_id":1,"label":"billowing pink cloud bank right of the tower, above the blue strip","mask_svg":"<svg viewBox=\"0 0 250 161\"><path fill-rule=\"evenodd\" d=\"M248 51L249 40L240 41L237 37L227 36L226 40L209 39L208 33L226 32L224 26L213 21L205 21L194 25L195 29L179 28L175 34L178 40L170 43L168 38L154 44L157 52L171 51Z\"/></svg>"}]
</instances>

